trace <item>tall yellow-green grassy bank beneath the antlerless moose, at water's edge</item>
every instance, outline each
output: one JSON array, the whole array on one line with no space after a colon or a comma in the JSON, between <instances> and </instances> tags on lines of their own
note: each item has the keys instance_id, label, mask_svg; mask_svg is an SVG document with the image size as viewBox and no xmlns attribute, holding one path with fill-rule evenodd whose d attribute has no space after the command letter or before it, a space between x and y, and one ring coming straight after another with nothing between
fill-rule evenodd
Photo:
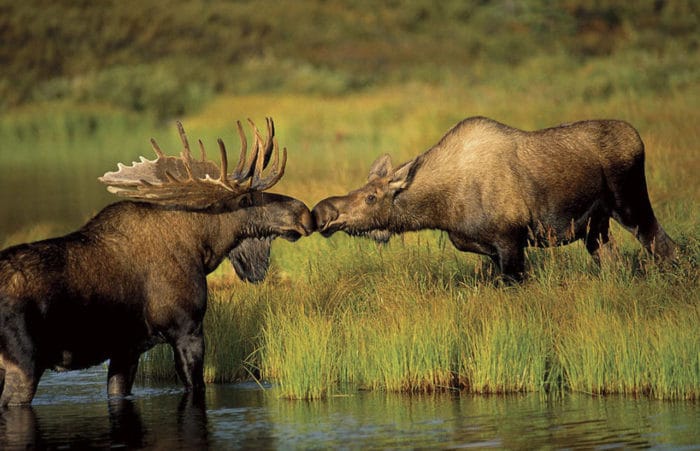
<instances>
[{"instance_id":1,"label":"tall yellow-green grassy bank beneath the antlerless moose, at water's edge","mask_svg":"<svg viewBox=\"0 0 700 451\"><path fill-rule=\"evenodd\" d=\"M578 246L533 251L531 279L502 287L478 257L426 235L383 248L346 237L278 246L277 258L313 261L259 287L227 285L234 276L221 270L205 325L207 379L271 380L290 398L357 389L698 397L700 281L690 260L699 243L667 271L631 240L600 269ZM167 348L143 365L144 375L173 375Z\"/></svg>"}]
</instances>

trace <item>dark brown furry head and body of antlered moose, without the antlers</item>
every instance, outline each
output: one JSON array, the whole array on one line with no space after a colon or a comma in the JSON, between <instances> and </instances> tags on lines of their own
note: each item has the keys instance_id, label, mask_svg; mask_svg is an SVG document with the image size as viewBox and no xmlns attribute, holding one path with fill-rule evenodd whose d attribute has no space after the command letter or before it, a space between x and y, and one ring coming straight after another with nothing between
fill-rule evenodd
<instances>
[{"instance_id":1,"label":"dark brown furry head and body of antlered moose, without the antlers","mask_svg":"<svg viewBox=\"0 0 700 451\"><path fill-rule=\"evenodd\" d=\"M253 192L201 211L118 202L74 233L1 251L0 406L31 402L46 369L107 359L109 394L126 395L160 342L201 389L206 275L242 242L312 230L302 202Z\"/></svg>"}]
</instances>

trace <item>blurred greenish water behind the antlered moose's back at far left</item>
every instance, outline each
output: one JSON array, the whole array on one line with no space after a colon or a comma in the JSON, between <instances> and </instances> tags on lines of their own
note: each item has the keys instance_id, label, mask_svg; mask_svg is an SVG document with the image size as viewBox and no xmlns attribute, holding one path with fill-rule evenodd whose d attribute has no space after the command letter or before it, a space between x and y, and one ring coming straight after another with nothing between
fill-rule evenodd
<instances>
[{"instance_id":1,"label":"blurred greenish water behind the antlered moose's back at far left","mask_svg":"<svg viewBox=\"0 0 700 451\"><path fill-rule=\"evenodd\" d=\"M119 200L97 177L119 161L152 158L154 135L179 152L174 124L159 129L142 117L60 109L0 117L0 245L14 234L24 241L37 226L51 236L71 232Z\"/></svg>"}]
</instances>

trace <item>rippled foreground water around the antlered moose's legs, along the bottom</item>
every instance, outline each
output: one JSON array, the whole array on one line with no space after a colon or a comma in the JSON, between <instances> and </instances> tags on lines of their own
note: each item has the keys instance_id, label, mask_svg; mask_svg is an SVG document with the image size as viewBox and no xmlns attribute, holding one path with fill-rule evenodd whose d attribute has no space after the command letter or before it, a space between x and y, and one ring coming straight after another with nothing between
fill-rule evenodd
<instances>
[{"instance_id":1,"label":"rippled foreground water around the antlered moose's legs, along the bottom","mask_svg":"<svg viewBox=\"0 0 700 451\"><path fill-rule=\"evenodd\" d=\"M0 414L0 448L700 449L700 405L566 395L278 399L255 384L137 386L106 399L102 366L47 373L31 407Z\"/></svg>"}]
</instances>

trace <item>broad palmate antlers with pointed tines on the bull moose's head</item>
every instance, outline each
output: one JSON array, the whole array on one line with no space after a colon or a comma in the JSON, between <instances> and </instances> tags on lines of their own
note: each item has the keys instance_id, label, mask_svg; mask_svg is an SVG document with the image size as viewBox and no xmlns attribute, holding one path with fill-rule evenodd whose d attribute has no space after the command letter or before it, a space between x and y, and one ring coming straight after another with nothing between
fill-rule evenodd
<instances>
[{"instance_id":1,"label":"broad palmate antlers with pointed tines on the bull moose's head","mask_svg":"<svg viewBox=\"0 0 700 451\"><path fill-rule=\"evenodd\" d=\"M131 199L138 199L164 205L179 205L189 208L206 208L225 197L240 195L248 191L263 191L272 187L284 175L287 163L287 149L282 149L282 161L279 147L275 140L275 125L271 118L266 118L267 138L263 140L253 121L248 119L255 137L255 142L247 158L248 141L240 121L236 122L241 137L241 153L238 165L228 173L228 156L224 142L219 139L221 166L207 161L204 144L199 140L201 159L192 157L187 135L180 122L178 132L182 140L183 151L179 157L167 156L151 138L151 146L157 158L148 160L141 157L140 162L131 166L121 163L116 172L107 172L98 180L108 185L111 193ZM262 176L270 158L272 166L266 177Z\"/></svg>"}]
</instances>

